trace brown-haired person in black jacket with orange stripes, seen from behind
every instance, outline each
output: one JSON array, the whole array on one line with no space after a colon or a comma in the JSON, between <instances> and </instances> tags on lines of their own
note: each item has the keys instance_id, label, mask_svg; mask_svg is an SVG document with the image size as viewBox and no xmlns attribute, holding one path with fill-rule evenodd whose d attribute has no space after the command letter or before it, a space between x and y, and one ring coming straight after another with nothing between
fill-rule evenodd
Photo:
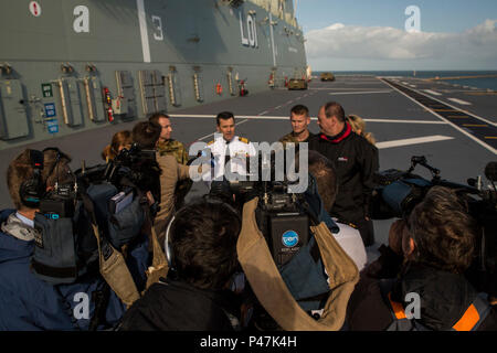
<instances>
[{"instance_id":1,"label":"brown-haired person in black jacket with orange stripes, seen from behind","mask_svg":"<svg viewBox=\"0 0 497 353\"><path fill-rule=\"evenodd\" d=\"M496 330L495 307L464 275L476 236L477 224L456 192L431 188L406 220L392 224L389 246L361 272L347 309L348 328Z\"/></svg>"}]
</instances>

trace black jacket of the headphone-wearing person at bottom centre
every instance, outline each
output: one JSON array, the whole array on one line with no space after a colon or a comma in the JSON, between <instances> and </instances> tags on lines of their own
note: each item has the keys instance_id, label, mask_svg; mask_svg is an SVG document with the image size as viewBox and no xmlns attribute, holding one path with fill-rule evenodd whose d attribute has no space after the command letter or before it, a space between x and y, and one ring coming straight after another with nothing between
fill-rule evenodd
<instances>
[{"instance_id":1,"label":"black jacket of the headphone-wearing person at bottom centre","mask_svg":"<svg viewBox=\"0 0 497 353\"><path fill-rule=\"evenodd\" d=\"M150 286L123 317L121 331L233 331L237 318L231 291L211 291L166 280Z\"/></svg>"}]
</instances>

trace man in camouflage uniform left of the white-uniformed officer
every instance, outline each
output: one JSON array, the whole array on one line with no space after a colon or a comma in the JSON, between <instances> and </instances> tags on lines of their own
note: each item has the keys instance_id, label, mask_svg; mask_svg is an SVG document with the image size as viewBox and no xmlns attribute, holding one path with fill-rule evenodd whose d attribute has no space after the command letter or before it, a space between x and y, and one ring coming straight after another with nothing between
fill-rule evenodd
<instances>
[{"instance_id":1,"label":"man in camouflage uniform left of the white-uniformed officer","mask_svg":"<svg viewBox=\"0 0 497 353\"><path fill-rule=\"evenodd\" d=\"M160 131L159 137L159 143L157 145L157 151L160 156L173 156L179 164L187 165L188 163L188 151L183 143L180 141L177 141L175 139L171 139L171 120L168 115L162 113L156 113L148 119L151 122L157 122L162 127L162 130ZM191 186L193 184L193 181L191 179L186 179L182 181L179 181L176 188L176 202L175 207L176 210L179 210L182 204L184 203L184 197L187 196L188 192L190 191Z\"/></svg>"}]
</instances>

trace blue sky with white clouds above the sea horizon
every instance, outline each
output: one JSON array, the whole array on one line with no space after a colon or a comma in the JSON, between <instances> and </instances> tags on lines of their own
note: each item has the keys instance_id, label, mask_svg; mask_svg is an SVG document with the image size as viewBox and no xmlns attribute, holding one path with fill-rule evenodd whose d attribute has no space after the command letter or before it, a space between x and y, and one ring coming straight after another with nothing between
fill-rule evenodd
<instances>
[{"instance_id":1,"label":"blue sky with white clouds above the sea horizon","mask_svg":"<svg viewBox=\"0 0 497 353\"><path fill-rule=\"evenodd\" d=\"M295 2L313 71L497 69L496 0Z\"/></svg>"}]
</instances>

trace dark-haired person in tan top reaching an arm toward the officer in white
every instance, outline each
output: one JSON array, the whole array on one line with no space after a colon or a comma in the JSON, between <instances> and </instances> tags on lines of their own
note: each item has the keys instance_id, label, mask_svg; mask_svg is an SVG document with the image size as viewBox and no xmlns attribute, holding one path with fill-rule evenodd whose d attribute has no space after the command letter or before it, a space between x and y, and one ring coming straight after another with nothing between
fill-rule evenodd
<instances>
[{"instance_id":1,"label":"dark-haired person in tan top reaching an arm toward the officer in white","mask_svg":"<svg viewBox=\"0 0 497 353\"><path fill-rule=\"evenodd\" d=\"M138 122L133 129L133 141L140 149L156 151L162 128L152 121ZM175 212L176 189L181 180L190 178L189 167L179 164L173 156L161 156L156 151L157 173L156 183L150 185L150 191L156 202L159 202L159 211L155 217L154 227L158 235L159 244L163 244L166 226Z\"/></svg>"}]
</instances>

